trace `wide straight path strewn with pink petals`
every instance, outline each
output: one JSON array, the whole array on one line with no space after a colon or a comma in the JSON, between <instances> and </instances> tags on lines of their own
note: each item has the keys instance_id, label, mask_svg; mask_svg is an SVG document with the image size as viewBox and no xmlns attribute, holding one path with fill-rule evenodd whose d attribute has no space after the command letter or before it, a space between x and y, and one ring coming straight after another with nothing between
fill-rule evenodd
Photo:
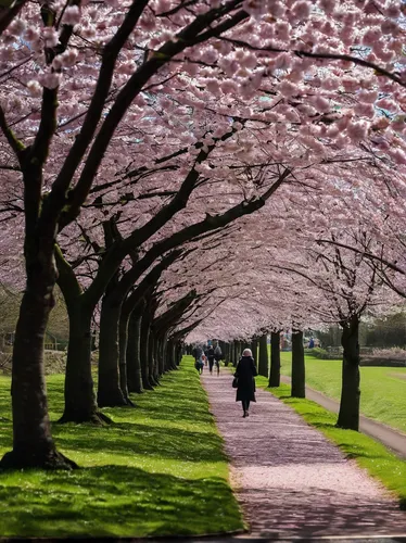
<instances>
[{"instance_id":1,"label":"wide straight path strewn with pink petals","mask_svg":"<svg viewBox=\"0 0 406 543\"><path fill-rule=\"evenodd\" d=\"M231 380L202 376L253 535L406 534L406 512L386 491L269 392L242 418Z\"/></svg>"}]
</instances>

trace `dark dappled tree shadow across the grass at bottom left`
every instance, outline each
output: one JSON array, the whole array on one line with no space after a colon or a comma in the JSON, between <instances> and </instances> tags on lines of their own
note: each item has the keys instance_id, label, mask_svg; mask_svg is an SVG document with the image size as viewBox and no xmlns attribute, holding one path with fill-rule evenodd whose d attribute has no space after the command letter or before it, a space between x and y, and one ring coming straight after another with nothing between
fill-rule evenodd
<instances>
[{"instance_id":1,"label":"dark dappled tree shadow across the grass at bottom left","mask_svg":"<svg viewBox=\"0 0 406 543\"><path fill-rule=\"evenodd\" d=\"M240 528L221 479L185 480L127 466L7 477L7 487L0 478L0 501L8 503L0 512L2 535L199 534L207 531L207 519L212 532L224 530L225 521Z\"/></svg>"}]
</instances>

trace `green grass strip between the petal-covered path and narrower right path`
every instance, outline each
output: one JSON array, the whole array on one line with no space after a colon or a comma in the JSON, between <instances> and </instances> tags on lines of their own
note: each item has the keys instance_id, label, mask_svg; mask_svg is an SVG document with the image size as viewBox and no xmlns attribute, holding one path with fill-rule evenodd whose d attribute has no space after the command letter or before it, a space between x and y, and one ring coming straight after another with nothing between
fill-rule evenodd
<instances>
[{"instance_id":1,"label":"green grass strip between the petal-covered path and narrower right path","mask_svg":"<svg viewBox=\"0 0 406 543\"><path fill-rule=\"evenodd\" d=\"M258 387L267 389L268 380L265 377L257 377L256 382ZM339 445L348 458L354 458L360 467L381 481L398 497L401 507L406 508L406 462L363 433L335 428L337 415L309 400L290 397L290 386L281 384L267 390Z\"/></svg>"}]
</instances>

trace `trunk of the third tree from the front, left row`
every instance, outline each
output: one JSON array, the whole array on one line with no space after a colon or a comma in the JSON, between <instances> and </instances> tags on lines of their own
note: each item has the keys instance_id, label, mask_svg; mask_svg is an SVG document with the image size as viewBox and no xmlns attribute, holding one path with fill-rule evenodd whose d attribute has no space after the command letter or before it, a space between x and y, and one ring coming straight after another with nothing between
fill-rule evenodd
<instances>
[{"instance_id":1,"label":"trunk of the third tree from the front, left row","mask_svg":"<svg viewBox=\"0 0 406 543\"><path fill-rule=\"evenodd\" d=\"M118 323L120 304L110 303L109 295L102 301L100 314L98 404L100 407L127 405L119 388L118 374Z\"/></svg>"}]
</instances>

